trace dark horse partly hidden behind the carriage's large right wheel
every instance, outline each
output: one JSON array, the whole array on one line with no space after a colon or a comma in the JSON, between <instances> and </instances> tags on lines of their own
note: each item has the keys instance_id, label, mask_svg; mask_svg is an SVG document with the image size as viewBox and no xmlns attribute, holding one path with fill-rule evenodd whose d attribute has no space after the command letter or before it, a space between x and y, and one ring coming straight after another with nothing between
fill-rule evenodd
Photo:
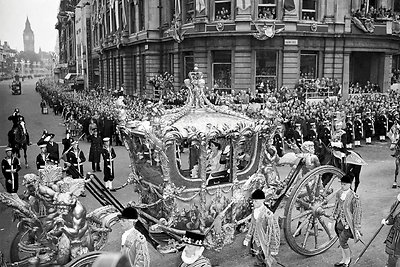
<instances>
[{"instance_id":1,"label":"dark horse partly hidden behind the carriage's large right wheel","mask_svg":"<svg viewBox=\"0 0 400 267\"><path fill-rule=\"evenodd\" d=\"M357 188L360 184L360 173L362 165L366 165L361 155L355 151L347 150L335 150L332 147L327 147L320 140L314 141L315 154L317 155L321 165L332 165L335 166L346 174L350 174L354 177L354 192L357 192ZM343 154L345 159L341 157ZM332 177L322 177L323 184L326 185Z\"/></svg>"}]
</instances>

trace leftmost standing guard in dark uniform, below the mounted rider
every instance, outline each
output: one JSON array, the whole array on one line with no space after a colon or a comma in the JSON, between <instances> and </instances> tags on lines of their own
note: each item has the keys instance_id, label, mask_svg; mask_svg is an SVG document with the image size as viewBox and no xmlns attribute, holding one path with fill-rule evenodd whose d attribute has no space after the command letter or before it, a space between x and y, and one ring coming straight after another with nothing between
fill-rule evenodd
<instances>
[{"instance_id":1,"label":"leftmost standing guard in dark uniform, below the mounted rider","mask_svg":"<svg viewBox=\"0 0 400 267\"><path fill-rule=\"evenodd\" d=\"M18 171L21 169L19 159L14 157L11 147L6 147L6 157L1 161L1 171L8 193L18 192Z\"/></svg>"}]
</instances>

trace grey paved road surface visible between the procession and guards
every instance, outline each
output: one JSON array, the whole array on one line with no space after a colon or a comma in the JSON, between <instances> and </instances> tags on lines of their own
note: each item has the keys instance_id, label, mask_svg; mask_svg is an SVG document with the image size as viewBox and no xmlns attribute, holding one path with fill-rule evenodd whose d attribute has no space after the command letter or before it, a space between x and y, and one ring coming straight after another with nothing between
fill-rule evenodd
<instances>
[{"instance_id":1,"label":"grey paved road surface visible between the procession and guards","mask_svg":"<svg viewBox=\"0 0 400 267\"><path fill-rule=\"evenodd\" d=\"M21 113L25 116L27 128L31 135L32 143L36 143L39 139L43 129L55 133L56 141L61 141L64 137L65 128L62 125L62 120L59 116L53 114L42 115L40 113L39 103L40 96L35 92L34 85L36 80L25 80L22 84L22 95L12 96L10 94L8 85L10 81L0 82L0 145L6 145L7 132L11 128L11 122L7 117L13 112L15 107L19 107ZM82 150L88 155L89 145L83 141L80 143ZM117 162L116 162L116 185L123 184L129 174L129 158L128 153L124 147L116 147ZM363 146L358 151L363 155L364 159L368 162L368 166L364 167L361 172L361 185L359 194L363 204L363 226L362 232L364 234L363 240L368 241L373 235L381 219L388 213L391 203L400 192L398 189L391 189L393 182L394 161L390 157L387 143L375 143L371 146ZM0 154L2 153L0 148ZM32 145L28 150L28 159L30 168L22 169L20 176L26 173L36 173L34 166L34 158L39 153L36 145ZM85 170L90 170L87 163ZM283 169L282 173L287 173L287 169ZM102 177L102 174L99 174ZM3 184L4 179L1 178L0 182ZM4 190L0 186L0 190ZM23 188L21 187L20 193ZM116 197L122 202L127 203L131 200L136 200L137 195L131 191L131 188L125 188L114 193ZM89 211L99 207L99 204L91 197L88 196L82 199L82 202ZM16 232L15 223L11 220L11 212L3 205L0 205L0 250L6 254L8 259L8 250L13 236ZM122 229L119 225L113 228L110 235L109 243L106 250L116 251L119 248L120 237ZM385 227L378 235L376 240L372 243L371 247L361 259L359 266L384 266L386 255L384 253L383 241L388 232L388 227ZM252 258L248 255L248 251L241 245L243 236L237 238L236 242L228 247L225 247L221 252L206 251L206 255L212 260L213 265L216 266L252 266ZM353 255L358 255L362 250L361 243L354 244L350 242ZM152 264L151 266L177 266L179 260L178 254L160 255L154 250L151 250ZM340 258L340 250L335 244L329 251L324 254L314 257L304 257L293 252L286 244L282 235L281 250L278 260L284 266L297 266L297 267L311 267L311 266L333 266L333 263Z\"/></svg>"}]
</instances>

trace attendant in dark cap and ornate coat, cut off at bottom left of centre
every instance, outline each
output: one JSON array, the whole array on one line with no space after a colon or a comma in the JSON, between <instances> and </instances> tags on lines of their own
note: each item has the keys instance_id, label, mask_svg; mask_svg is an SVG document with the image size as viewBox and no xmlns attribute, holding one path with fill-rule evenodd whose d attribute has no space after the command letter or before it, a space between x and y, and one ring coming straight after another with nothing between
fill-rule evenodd
<instances>
[{"instance_id":1,"label":"attendant in dark cap and ornate coat, cut off at bottom left of centre","mask_svg":"<svg viewBox=\"0 0 400 267\"><path fill-rule=\"evenodd\" d=\"M119 216L123 228L129 228L122 234L121 253L129 259L132 267L149 267L150 254L146 237L136 229L140 223L139 214L134 207L126 207Z\"/></svg>"}]
</instances>

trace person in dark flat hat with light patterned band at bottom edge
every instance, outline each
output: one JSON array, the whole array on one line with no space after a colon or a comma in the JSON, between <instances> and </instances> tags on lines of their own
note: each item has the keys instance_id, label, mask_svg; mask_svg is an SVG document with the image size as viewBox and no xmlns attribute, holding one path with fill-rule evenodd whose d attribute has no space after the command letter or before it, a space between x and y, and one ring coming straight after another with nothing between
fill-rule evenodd
<instances>
[{"instance_id":1,"label":"person in dark flat hat with light patterned band at bottom edge","mask_svg":"<svg viewBox=\"0 0 400 267\"><path fill-rule=\"evenodd\" d=\"M182 241L186 243L181 255L179 267L211 267L211 262L203 256L205 236L201 233L186 231Z\"/></svg>"}]
</instances>

